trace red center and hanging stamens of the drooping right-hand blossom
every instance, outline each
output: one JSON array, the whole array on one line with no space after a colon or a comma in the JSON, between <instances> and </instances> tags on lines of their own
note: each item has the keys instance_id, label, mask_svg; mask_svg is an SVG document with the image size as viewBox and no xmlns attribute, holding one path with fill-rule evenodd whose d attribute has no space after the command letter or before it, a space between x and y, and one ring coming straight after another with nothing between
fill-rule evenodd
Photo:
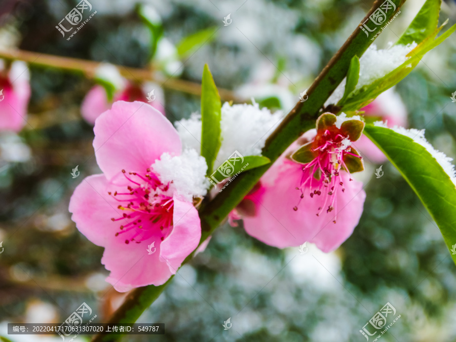
<instances>
[{"instance_id":1,"label":"red center and hanging stamens of the drooping right-hand blossom","mask_svg":"<svg viewBox=\"0 0 456 342\"><path fill-rule=\"evenodd\" d=\"M344 156L352 155L360 158L350 152L350 144L351 141L342 134L325 130L314 141L315 147L312 148L312 151L317 153L317 157L302 167L300 186L296 187L296 189L301 191L299 203L304 198L306 191L310 192L311 198L315 195L323 196L322 205L318 208L317 216L320 216L325 209L326 213L336 210L335 194L339 187L342 192L345 191L340 171L344 168L344 171L347 171L349 175L350 172L344 163ZM352 180L351 177L350 180ZM297 209L297 206L293 208L295 211ZM336 223L335 216L333 222Z\"/></svg>"}]
</instances>

